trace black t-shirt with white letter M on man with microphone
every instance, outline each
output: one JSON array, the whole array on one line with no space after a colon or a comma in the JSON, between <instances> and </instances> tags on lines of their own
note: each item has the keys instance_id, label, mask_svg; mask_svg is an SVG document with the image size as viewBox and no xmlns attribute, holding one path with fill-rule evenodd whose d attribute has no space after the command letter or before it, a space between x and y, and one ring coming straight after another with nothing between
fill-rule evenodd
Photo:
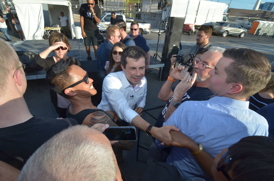
<instances>
[{"instance_id":1,"label":"black t-shirt with white letter M on man with microphone","mask_svg":"<svg viewBox=\"0 0 274 181\"><path fill-rule=\"evenodd\" d=\"M100 8L95 5L93 10L95 11L96 17L101 19L101 10ZM87 3L81 4L79 14L84 17L84 29L86 30L96 30L98 29L97 27L97 22L95 21L95 18L92 16L93 13L91 13L91 10Z\"/></svg>"}]
</instances>

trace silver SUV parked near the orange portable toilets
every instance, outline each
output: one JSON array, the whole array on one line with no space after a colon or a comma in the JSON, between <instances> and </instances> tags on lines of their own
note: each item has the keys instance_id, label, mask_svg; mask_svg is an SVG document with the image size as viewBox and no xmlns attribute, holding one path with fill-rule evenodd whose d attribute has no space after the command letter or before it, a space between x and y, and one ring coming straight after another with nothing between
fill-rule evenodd
<instances>
[{"instance_id":1,"label":"silver SUV parked near the orange portable toilets","mask_svg":"<svg viewBox=\"0 0 274 181\"><path fill-rule=\"evenodd\" d=\"M240 38L246 34L246 28L242 28L238 23L235 22L216 22L213 25L212 32L221 34L222 37L227 35L238 35Z\"/></svg>"}]
</instances>

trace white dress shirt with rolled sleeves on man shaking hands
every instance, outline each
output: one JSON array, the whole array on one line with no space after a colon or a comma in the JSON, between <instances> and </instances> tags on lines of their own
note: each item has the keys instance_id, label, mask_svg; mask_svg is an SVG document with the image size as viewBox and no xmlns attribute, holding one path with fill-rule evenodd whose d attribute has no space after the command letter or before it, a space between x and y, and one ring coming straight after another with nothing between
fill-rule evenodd
<instances>
[{"instance_id":1,"label":"white dress shirt with rolled sleeves on man shaking hands","mask_svg":"<svg viewBox=\"0 0 274 181\"><path fill-rule=\"evenodd\" d=\"M144 108L146 95L145 77L133 88L123 71L110 73L104 79L102 100L97 107L104 111L115 111L119 118L131 123L131 120L138 115L133 110L135 105Z\"/></svg>"}]
</instances>

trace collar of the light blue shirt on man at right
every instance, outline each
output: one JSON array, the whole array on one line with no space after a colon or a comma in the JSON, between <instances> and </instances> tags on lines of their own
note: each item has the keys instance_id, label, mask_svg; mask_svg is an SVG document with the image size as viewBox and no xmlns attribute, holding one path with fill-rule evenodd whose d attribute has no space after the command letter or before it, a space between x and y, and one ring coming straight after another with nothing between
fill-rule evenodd
<instances>
[{"instance_id":1,"label":"collar of the light blue shirt on man at right","mask_svg":"<svg viewBox=\"0 0 274 181\"><path fill-rule=\"evenodd\" d=\"M215 96L209 99L211 102L217 102L227 107L236 109L249 109L249 101L242 101L237 99L232 99L229 97Z\"/></svg>"}]
</instances>

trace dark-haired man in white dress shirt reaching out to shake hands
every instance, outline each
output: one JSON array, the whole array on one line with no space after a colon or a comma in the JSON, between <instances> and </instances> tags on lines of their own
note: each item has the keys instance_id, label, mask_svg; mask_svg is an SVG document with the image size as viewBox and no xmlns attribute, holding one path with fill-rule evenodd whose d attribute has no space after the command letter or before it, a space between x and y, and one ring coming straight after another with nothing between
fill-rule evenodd
<instances>
[{"instance_id":1,"label":"dark-haired man in white dress shirt reaching out to shake hands","mask_svg":"<svg viewBox=\"0 0 274 181\"><path fill-rule=\"evenodd\" d=\"M147 55L138 46L129 46L121 55L121 72L110 73L103 82L102 100L97 106L105 111L115 111L119 118L146 132L148 136L171 140L169 131L175 126L155 127L141 118L147 94L145 64ZM136 106L135 110L134 107Z\"/></svg>"}]
</instances>

